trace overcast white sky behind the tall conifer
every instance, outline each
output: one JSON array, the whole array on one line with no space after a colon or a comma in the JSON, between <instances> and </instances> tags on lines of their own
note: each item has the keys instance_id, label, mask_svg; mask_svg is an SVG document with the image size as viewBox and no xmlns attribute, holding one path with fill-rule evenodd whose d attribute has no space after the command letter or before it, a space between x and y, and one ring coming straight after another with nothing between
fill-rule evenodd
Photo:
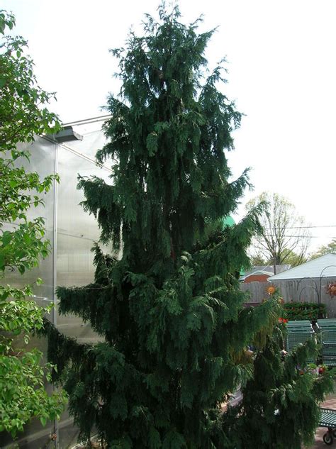
<instances>
[{"instance_id":1,"label":"overcast white sky behind the tall conifer","mask_svg":"<svg viewBox=\"0 0 336 449\"><path fill-rule=\"evenodd\" d=\"M3 0L16 33L29 41L43 89L57 92L64 123L101 115L118 92L109 48L123 45L157 0ZM246 116L229 162L235 176L252 167L254 192L278 192L314 226L311 248L336 237L335 0L180 0L184 21L204 14L219 26L206 53L226 55L226 93ZM105 113L105 112L104 112Z\"/></svg>"}]
</instances>

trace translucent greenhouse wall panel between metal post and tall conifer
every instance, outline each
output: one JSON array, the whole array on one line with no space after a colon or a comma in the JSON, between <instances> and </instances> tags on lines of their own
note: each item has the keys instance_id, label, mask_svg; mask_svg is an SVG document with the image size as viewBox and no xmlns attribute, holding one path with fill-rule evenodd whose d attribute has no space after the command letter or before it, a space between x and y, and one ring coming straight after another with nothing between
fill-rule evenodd
<instances>
[{"instance_id":1,"label":"translucent greenhouse wall panel between metal post and tall conifer","mask_svg":"<svg viewBox=\"0 0 336 449\"><path fill-rule=\"evenodd\" d=\"M57 195L57 284L80 287L94 280L91 248L99 240L99 229L94 216L80 206L84 195L76 188L77 174L99 175L101 169L81 155L60 147L58 172L61 182ZM82 342L97 340L91 326L76 316L57 316L57 327Z\"/></svg>"}]
</instances>

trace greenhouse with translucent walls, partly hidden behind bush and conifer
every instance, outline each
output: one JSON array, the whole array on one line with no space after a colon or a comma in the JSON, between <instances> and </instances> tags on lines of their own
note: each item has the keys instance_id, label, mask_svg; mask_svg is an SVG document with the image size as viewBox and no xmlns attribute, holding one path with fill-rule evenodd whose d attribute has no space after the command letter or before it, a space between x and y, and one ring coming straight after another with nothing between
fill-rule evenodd
<instances>
[{"instance_id":1,"label":"greenhouse with translucent walls, partly hidden behind bush and conifer","mask_svg":"<svg viewBox=\"0 0 336 449\"><path fill-rule=\"evenodd\" d=\"M57 285L87 284L94 275L91 248L99 240L99 229L95 218L79 205L84 197L82 191L77 189L77 175L97 175L108 180L111 168L96 165L94 160L96 151L106 142L101 130L105 120L106 116L103 116L67 123L57 135L37 137L29 148L29 170L38 172L40 177L58 173L60 183L55 183L53 189L47 192L44 207L38 206L29 212L45 218L46 237L52 243L52 252L37 269L26 272L24 281L34 282L36 277L42 278L44 283L35 287L35 301L40 306L54 302L56 307L49 319L65 335L87 343L97 340L91 327L75 316L59 316L54 292ZM23 278L17 272L11 273L10 281L19 286ZM30 345L44 353L46 351L45 340L33 338ZM20 448L50 448L55 438L55 444L58 440L60 448L67 448L77 442L78 432L72 421L67 413L59 422L47 423L45 427L40 421L33 420L17 443ZM11 438L0 440L1 448L10 446Z\"/></svg>"}]
</instances>

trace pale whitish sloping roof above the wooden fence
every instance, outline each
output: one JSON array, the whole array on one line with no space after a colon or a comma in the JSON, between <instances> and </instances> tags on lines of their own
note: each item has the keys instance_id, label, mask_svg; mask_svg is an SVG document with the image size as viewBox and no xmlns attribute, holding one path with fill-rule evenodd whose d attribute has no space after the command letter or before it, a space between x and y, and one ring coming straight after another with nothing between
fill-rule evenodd
<instances>
[{"instance_id":1,"label":"pale whitish sloping roof above the wooden fence","mask_svg":"<svg viewBox=\"0 0 336 449\"><path fill-rule=\"evenodd\" d=\"M269 282L288 279L303 279L303 277L336 277L336 254L325 254L297 267L269 277Z\"/></svg>"}]
</instances>

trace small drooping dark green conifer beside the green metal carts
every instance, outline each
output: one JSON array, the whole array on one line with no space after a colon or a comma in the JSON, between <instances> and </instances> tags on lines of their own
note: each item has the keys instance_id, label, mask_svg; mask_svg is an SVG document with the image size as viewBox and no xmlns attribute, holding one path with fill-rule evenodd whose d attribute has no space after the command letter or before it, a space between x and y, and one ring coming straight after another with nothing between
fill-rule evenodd
<instances>
[{"instance_id":1,"label":"small drooping dark green conifer beside the green metal carts","mask_svg":"<svg viewBox=\"0 0 336 449\"><path fill-rule=\"evenodd\" d=\"M332 392L335 372L308 363L318 360L314 339L281 351L285 335L278 323L266 345L254 348L254 377L242 389L242 402L223 417L237 436L236 449L301 449L313 442L318 405Z\"/></svg>"}]
</instances>

